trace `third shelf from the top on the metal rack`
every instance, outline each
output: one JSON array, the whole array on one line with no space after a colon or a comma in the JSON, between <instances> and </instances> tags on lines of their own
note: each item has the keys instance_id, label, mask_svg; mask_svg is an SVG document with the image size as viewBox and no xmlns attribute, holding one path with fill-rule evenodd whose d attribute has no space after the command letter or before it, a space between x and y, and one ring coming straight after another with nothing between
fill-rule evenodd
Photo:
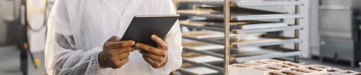
<instances>
[{"instance_id":1,"label":"third shelf from the top on the metal rack","mask_svg":"<svg viewBox=\"0 0 361 75\"><path fill-rule=\"evenodd\" d=\"M181 26L185 26L188 28L197 28L197 29L205 29L205 30L214 30L219 32L224 32L224 28L222 27L222 23L212 23L212 22L200 22L200 21L188 21L182 22L180 21ZM284 24L284 23L262 23L262 24L251 24L251 25L276 25L276 24ZM208 26L208 25L219 25L216 26ZM302 30L303 27L300 25L288 25L288 26L274 26L274 27L263 27L257 28L253 26L249 29L241 29L241 28L231 28L232 33L264 33L264 32L274 32L274 31L282 31L282 30Z\"/></svg>"}]
</instances>

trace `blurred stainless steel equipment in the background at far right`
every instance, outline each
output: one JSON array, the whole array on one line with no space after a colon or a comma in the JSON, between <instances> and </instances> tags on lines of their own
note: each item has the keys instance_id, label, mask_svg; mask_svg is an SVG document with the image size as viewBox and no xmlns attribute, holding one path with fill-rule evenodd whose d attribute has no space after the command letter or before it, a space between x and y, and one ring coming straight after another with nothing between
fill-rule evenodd
<instances>
[{"instance_id":1,"label":"blurred stainless steel equipment in the background at far right","mask_svg":"<svg viewBox=\"0 0 361 75\"><path fill-rule=\"evenodd\" d=\"M360 0L321 0L319 9L320 61L323 58L345 60L355 67L359 61L360 30L356 17Z\"/></svg>"}]
</instances>

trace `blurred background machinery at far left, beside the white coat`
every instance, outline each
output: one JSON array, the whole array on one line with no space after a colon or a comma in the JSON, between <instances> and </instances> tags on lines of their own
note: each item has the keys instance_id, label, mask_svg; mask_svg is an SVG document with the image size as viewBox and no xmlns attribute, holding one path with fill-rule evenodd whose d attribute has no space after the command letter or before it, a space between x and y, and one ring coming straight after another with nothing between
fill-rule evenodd
<instances>
[{"instance_id":1,"label":"blurred background machinery at far left, beside the white coat","mask_svg":"<svg viewBox=\"0 0 361 75\"><path fill-rule=\"evenodd\" d=\"M1 68L0 74L46 74L45 21L53 3L53 0L0 0L0 67L11 67Z\"/></svg>"}]
</instances>

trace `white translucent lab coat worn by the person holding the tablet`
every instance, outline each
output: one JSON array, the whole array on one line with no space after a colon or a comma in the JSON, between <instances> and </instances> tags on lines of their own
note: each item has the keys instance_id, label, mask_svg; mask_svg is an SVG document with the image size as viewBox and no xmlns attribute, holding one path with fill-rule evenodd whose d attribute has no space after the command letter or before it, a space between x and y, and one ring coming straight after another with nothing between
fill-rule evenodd
<instances>
[{"instance_id":1,"label":"white translucent lab coat worn by the person holding the tablet","mask_svg":"<svg viewBox=\"0 0 361 75\"><path fill-rule=\"evenodd\" d=\"M120 69L101 69L98 52L113 35L122 37L133 16L176 14L171 0L57 0L48 18L45 46L47 74L166 75L181 67L179 23L168 33L168 62L152 68L131 52ZM161 28L161 27L159 27Z\"/></svg>"}]
</instances>

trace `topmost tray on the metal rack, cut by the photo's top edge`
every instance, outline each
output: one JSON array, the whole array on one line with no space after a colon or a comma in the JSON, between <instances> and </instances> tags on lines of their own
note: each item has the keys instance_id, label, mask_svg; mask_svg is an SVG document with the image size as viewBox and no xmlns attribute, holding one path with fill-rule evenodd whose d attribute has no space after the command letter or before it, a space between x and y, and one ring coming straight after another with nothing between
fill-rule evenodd
<instances>
[{"instance_id":1,"label":"topmost tray on the metal rack, cut by the photo's top edge","mask_svg":"<svg viewBox=\"0 0 361 75\"><path fill-rule=\"evenodd\" d=\"M223 6L223 0L178 0L181 4L207 4ZM304 1L231 1L230 6L304 6Z\"/></svg>"}]
</instances>

